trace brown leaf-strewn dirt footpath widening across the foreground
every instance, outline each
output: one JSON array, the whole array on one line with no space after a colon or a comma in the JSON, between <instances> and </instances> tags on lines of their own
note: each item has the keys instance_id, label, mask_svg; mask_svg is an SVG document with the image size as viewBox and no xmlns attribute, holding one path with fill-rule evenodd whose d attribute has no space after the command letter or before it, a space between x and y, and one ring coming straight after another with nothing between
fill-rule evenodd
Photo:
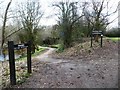
<instances>
[{"instance_id":1,"label":"brown leaf-strewn dirt footpath widening across the foreground","mask_svg":"<svg viewBox=\"0 0 120 90\"><path fill-rule=\"evenodd\" d=\"M115 44L115 45L114 45ZM86 58L55 59L49 50L33 58L33 73L19 88L118 88L118 44L108 44Z\"/></svg>"}]
</instances>

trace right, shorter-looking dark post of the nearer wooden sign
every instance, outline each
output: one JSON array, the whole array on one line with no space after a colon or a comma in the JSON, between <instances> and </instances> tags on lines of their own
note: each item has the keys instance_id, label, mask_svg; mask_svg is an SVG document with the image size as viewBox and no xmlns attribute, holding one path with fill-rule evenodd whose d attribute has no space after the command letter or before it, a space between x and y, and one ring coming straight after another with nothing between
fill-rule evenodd
<instances>
[{"instance_id":1,"label":"right, shorter-looking dark post of the nearer wooden sign","mask_svg":"<svg viewBox=\"0 0 120 90\"><path fill-rule=\"evenodd\" d=\"M28 73L31 73L31 41L28 41L28 47L27 47L27 67L28 67Z\"/></svg>"}]
</instances>

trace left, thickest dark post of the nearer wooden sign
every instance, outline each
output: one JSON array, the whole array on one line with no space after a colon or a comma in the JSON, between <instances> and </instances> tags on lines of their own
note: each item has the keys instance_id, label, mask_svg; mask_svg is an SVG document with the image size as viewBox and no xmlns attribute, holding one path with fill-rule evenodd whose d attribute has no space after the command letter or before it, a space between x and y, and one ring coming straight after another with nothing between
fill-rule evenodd
<instances>
[{"instance_id":1,"label":"left, thickest dark post of the nearer wooden sign","mask_svg":"<svg viewBox=\"0 0 120 90\"><path fill-rule=\"evenodd\" d=\"M9 67L10 67L10 83L11 85L16 85L14 42L13 41L8 41L8 52L9 52Z\"/></svg>"}]
</instances>

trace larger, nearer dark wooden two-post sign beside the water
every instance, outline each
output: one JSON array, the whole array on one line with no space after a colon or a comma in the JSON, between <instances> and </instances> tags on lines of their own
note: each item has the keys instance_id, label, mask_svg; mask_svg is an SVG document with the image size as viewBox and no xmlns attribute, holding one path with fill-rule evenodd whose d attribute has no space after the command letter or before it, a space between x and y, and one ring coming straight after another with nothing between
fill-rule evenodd
<instances>
[{"instance_id":1,"label":"larger, nearer dark wooden two-post sign beside the water","mask_svg":"<svg viewBox=\"0 0 120 90\"><path fill-rule=\"evenodd\" d=\"M31 73L31 41L25 44L14 45L13 41L8 41L8 52L9 52L9 67L10 67L10 83L16 85L16 70L15 70L15 54L14 50L27 48L27 71Z\"/></svg>"}]
</instances>

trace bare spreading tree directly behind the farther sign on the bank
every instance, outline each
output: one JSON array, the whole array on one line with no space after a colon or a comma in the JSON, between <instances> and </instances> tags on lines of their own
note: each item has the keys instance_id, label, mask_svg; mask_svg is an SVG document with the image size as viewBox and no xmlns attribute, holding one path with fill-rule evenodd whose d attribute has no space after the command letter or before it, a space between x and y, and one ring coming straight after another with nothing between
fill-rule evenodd
<instances>
[{"instance_id":1,"label":"bare spreading tree directly behind the farther sign on the bank","mask_svg":"<svg viewBox=\"0 0 120 90\"><path fill-rule=\"evenodd\" d=\"M83 13L89 24L92 26L92 30L106 30L106 27L112 22L114 22L115 19L109 21L108 17L116 13L117 8L115 11L109 13L107 11L109 2L110 0L108 2L105 2L105 0L92 0L90 3L85 2L83 4L85 6L85 8L83 8ZM98 41L98 36L96 37L96 41Z\"/></svg>"}]
</instances>

